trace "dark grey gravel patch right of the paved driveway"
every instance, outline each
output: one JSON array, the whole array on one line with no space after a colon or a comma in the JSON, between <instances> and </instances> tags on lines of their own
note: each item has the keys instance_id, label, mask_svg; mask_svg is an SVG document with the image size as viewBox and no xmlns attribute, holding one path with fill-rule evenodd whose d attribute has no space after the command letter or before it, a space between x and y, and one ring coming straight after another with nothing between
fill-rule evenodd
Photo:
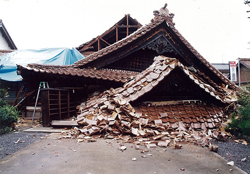
<instances>
[{"instance_id":1,"label":"dark grey gravel patch right of the paved driveway","mask_svg":"<svg viewBox=\"0 0 250 174\"><path fill-rule=\"evenodd\" d=\"M218 154L225 160L234 161L234 165L250 174L250 145L235 143L232 139L227 142L215 142L214 145L219 146ZM241 161L246 158L246 161Z\"/></svg>"}]
</instances>

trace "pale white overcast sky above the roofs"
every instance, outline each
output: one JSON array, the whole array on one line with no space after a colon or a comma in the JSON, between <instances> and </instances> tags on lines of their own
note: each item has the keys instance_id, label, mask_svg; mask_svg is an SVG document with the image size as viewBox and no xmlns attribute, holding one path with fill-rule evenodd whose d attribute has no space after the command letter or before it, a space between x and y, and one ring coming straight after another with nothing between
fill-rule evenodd
<instances>
[{"instance_id":1,"label":"pale white overcast sky above the roofs","mask_svg":"<svg viewBox=\"0 0 250 174\"><path fill-rule=\"evenodd\" d=\"M209 62L250 58L250 7L243 0L0 0L18 49L77 47L125 14L147 24L168 3L177 30Z\"/></svg>"}]
</instances>

